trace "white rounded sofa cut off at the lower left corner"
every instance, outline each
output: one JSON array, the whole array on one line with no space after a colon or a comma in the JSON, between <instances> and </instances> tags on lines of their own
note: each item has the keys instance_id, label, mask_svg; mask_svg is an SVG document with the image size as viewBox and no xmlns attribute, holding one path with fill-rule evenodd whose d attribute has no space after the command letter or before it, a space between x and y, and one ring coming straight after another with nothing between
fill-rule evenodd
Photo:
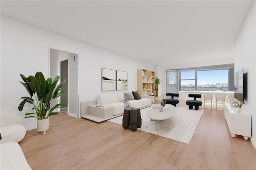
<instances>
[{"instance_id":1,"label":"white rounded sofa cut off at the lower left corner","mask_svg":"<svg viewBox=\"0 0 256 170\"><path fill-rule=\"evenodd\" d=\"M23 114L12 107L1 106L0 111L0 169L31 170L18 144L26 135Z\"/></svg>"}]
</instances>

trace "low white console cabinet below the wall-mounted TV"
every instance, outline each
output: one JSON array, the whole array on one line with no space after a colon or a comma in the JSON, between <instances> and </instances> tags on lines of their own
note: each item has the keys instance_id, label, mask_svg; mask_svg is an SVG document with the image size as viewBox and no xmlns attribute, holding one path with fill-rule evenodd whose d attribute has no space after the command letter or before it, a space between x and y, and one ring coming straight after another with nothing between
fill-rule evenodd
<instances>
[{"instance_id":1,"label":"low white console cabinet below the wall-mounted TV","mask_svg":"<svg viewBox=\"0 0 256 170\"><path fill-rule=\"evenodd\" d=\"M224 114L233 138L236 134L244 136L245 140L251 137L251 115L248 112L242 109L242 113L238 113L237 107L231 107L230 103L226 103Z\"/></svg>"}]
</instances>

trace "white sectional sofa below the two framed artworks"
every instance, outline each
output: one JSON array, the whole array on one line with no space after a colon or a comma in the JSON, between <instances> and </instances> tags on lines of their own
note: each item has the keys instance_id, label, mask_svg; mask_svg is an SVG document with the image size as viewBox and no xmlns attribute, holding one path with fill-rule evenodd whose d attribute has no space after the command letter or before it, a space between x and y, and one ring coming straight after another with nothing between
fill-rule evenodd
<instances>
[{"instance_id":1,"label":"white sectional sofa below the two framed artworks","mask_svg":"<svg viewBox=\"0 0 256 170\"><path fill-rule=\"evenodd\" d=\"M127 107L127 102L130 104L129 107L134 108L143 109L151 106L152 101L149 97L140 97L141 99L138 100L125 100L124 93L98 95L97 100L83 101L80 103L81 117L99 123L114 117L122 116L124 108ZM106 108L96 108L97 104L105 105Z\"/></svg>"}]
</instances>

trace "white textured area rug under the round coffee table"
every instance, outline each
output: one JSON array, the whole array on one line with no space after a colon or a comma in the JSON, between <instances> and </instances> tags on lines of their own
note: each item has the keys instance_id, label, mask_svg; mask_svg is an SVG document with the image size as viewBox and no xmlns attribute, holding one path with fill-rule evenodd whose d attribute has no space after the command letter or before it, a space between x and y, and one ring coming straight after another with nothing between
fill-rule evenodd
<instances>
[{"instance_id":1,"label":"white textured area rug under the round coffee table","mask_svg":"<svg viewBox=\"0 0 256 170\"><path fill-rule=\"evenodd\" d=\"M176 114L163 121L150 121L147 116L147 111L152 109L147 107L140 110L142 126L138 130L142 130L148 133L156 134L179 142L189 144L194 131L200 121L204 109L199 108L189 110L188 107L176 107ZM110 119L108 121L122 125L123 116Z\"/></svg>"}]
</instances>

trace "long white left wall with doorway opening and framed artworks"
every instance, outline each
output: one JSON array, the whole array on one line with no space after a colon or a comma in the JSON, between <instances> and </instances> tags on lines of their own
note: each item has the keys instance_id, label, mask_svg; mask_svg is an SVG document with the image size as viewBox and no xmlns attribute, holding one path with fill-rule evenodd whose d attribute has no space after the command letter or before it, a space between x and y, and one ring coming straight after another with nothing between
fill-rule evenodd
<instances>
[{"instance_id":1,"label":"long white left wall with doorway opening and framed artworks","mask_svg":"<svg viewBox=\"0 0 256 170\"><path fill-rule=\"evenodd\" d=\"M42 71L49 76L50 48L78 54L79 102L113 93L101 91L101 68L128 71L128 91L137 89L137 69L154 70L154 65L1 16L2 106L18 108L20 97L27 96L18 82L22 80L20 73L28 76Z\"/></svg>"}]
</instances>

